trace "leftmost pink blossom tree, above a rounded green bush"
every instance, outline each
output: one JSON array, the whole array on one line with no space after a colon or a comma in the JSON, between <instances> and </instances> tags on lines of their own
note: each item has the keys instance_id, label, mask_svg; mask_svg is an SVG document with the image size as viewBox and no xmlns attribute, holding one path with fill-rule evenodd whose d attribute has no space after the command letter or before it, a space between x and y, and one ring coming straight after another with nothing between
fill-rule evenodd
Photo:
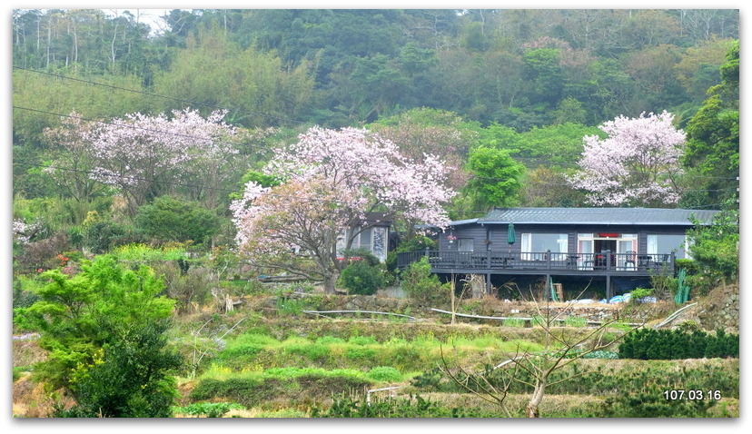
<instances>
[{"instance_id":1,"label":"leftmost pink blossom tree, above a rounded green bush","mask_svg":"<svg viewBox=\"0 0 752 434\"><path fill-rule=\"evenodd\" d=\"M149 197L180 182L193 161L238 153L229 142L237 130L222 122L225 114L204 118L186 109L170 117L133 113L102 123L87 137L96 161L92 178L118 188L133 214Z\"/></svg>"}]
</instances>

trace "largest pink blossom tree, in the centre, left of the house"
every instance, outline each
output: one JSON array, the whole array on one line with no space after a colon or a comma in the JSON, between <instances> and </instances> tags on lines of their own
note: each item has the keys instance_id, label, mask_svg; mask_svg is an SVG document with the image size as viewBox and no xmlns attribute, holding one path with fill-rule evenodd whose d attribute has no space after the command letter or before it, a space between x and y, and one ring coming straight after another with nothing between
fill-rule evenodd
<instances>
[{"instance_id":1,"label":"largest pink blossom tree, in the centre, left of the house","mask_svg":"<svg viewBox=\"0 0 752 434\"><path fill-rule=\"evenodd\" d=\"M405 157L363 129L314 127L299 139L264 168L281 184L248 182L232 204L237 242L253 264L323 281L331 293L353 240L374 224L368 212L408 224L449 222L442 204L454 192L436 157Z\"/></svg>"}]
</instances>

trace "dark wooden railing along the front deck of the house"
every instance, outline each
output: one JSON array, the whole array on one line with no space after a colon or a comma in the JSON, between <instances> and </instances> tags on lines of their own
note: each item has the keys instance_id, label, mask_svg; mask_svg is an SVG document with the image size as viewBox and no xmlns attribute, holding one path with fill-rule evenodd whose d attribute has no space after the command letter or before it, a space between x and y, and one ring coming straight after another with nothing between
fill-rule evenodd
<instances>
[{"instance_id":1,"label":"dark wooden railing along the front deck of the house","mask_svg":"<svg viewBox=\"0 0 752 434\"><path fill-rule=\"evenodd\" d=\"M674 253L559 253L559 252L440 252L397 254L397 266L404 268L427 257L433 271L642 271L673 272Z\"/></svg>"}]
</instances>

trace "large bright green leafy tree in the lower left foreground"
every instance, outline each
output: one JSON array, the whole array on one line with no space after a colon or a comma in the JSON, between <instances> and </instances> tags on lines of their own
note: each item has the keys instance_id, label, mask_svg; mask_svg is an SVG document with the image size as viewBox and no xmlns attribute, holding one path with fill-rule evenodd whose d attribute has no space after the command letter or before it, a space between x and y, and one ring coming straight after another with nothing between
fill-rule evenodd
<instances>
[{"instance_id":1,"label":"large bright green leafy tree in the lower left foreground","mask_svg":"<svg viewBox=\"0 0 752 434\"><path fill-rule=\"evenodd\" d=\"M166 414L177 359L165 350L163 321L174 301L160 295L163 285L153 271L126 270L102 255L73 277L57 270L41 277L49 283L33 290L40 300L15 309L15 326L40 332L40 347L50 351L35 375L71 391L81 404L77 411L87 415L105 404L112 414ZM125 373L134 376L132 383L108 380L129 378ZM151 399L151 409L137 409Z\"/></svg>"}]
</instances>

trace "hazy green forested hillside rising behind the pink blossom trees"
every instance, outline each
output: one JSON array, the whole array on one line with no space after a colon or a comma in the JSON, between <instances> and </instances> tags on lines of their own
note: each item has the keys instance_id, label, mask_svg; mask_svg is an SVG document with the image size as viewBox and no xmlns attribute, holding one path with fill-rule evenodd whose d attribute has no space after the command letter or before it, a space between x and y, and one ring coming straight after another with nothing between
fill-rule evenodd
<instances>
[{"instance_id":1,"label":"hazy green forested hillside rising behind the pink blossom trees","mask_svg":"<svg viewBox=\"0 0 752 434\"><path fill-rule=\"evenodd\" d=\"M141 21L15 11L18 156L44 160L44 129L72 112L226 109L225 122L292 135L413 116L446 126L449 112L463 129L504 129L493 140L544 166L532 182L550 181L547 171L574 167L584 135L618 115L666 110L686 127L738 37L736 10L173 10L156 35ZM410 114L422 107L439 112ZM17 188L44 195L19 169ZM548 203L540 192L522 202Z\"/></svg>"}]
</instances>

